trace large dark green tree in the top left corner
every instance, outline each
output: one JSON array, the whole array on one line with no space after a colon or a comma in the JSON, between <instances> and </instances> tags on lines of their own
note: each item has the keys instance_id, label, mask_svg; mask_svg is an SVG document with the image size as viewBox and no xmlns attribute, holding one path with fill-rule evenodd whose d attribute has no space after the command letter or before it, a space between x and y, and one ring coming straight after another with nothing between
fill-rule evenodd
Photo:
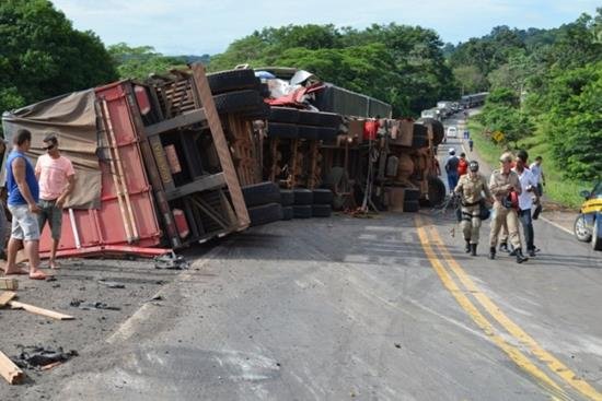
<instances>
[{"instance_id":1,"label":"large dark green tree in the top left corner","mask_svg":"<svg viewBox=\"0 0 602 401\"><path fill-rule=\"evenodd\" d=\"M0 110L117 78L102 42L46 0L0 2Z\"/></svg>"}]
</instances>

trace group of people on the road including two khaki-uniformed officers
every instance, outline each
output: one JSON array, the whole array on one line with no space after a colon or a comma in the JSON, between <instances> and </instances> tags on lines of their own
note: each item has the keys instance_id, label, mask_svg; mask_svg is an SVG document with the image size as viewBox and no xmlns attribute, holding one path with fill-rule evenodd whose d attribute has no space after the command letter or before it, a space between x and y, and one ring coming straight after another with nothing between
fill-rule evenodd
<instances>
[{"instance_id":1,"label":"group of people on the road including two khaki-uniformed officers","mask_svg":"<svg viewBox=\"0 0 602 401\"><path fill-rule=\"evenodd\" d=\"M448 181L452 194L461 199L461 226L466 243L465 250L476 256L479 228L487 204L493 204L493 217L489 233L489 259L496 258L499 240L500 251L510 252L518 263L529 260L522 252L522 240L519 234L519 222L523 227L525 249L530 257L539 251L534 244L533 219L541 211L540 197L543 193L545 177L542 170L542 157L529 165L525 151L503 153L500 168L491 173L489 181L478 173L478 162L467 163L467 172L462 172L462 162L453 149L445 164ZM535 207L535 210L534 210ZM534 212L534 213L533 213ZM508 244L510 243L510 247Z\"/></svg>"}]
</instances>

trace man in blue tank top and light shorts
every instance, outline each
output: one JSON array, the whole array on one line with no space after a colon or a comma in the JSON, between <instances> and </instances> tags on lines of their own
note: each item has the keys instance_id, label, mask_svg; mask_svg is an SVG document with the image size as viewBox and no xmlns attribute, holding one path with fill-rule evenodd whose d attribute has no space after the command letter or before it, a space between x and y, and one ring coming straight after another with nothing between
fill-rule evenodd
<instances>
[{"instance_id":1,"label":"man in blue tank top and light shorts","mask_svg":"<svg viewBox=\"0 0 602 401\"><path fill-rule=\"evenodd\" d=\"M27 274L16 266L16 252L23 244L25 256L30 260L30 279L44 280L46 274L39 270L39 225L36 216L39 213L39 187L34 167L25 156L31 144L32 133L20 129L13 138L13 149L7 158L8 204L12 214L12 229L4 273Z\"/></svg>"}]
</instances>

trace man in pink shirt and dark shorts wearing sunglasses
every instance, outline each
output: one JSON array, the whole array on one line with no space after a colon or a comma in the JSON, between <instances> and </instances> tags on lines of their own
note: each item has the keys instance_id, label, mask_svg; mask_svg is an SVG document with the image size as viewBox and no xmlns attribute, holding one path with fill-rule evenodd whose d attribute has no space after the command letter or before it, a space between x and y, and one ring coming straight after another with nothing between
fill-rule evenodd
<instances>
[{"instance_id":1,"label":"man in pink shirt and dark shorts wearing sunglasses","mask_svg":"<svg viewBox=\"0 0 602 401\"><path fill-rule=\"evenodd\" d=\"M39 232L42 233L46 221L48 221L53 236L48 264L50 269L56 269L58 267L56 256L62 226L62 205L73 190L76 172L71 161L60 155L56 133L48 132L46 134L44 150L46 154L39 156L35 166L35 175L39 180Z\"/></svg>"}]
</instances>

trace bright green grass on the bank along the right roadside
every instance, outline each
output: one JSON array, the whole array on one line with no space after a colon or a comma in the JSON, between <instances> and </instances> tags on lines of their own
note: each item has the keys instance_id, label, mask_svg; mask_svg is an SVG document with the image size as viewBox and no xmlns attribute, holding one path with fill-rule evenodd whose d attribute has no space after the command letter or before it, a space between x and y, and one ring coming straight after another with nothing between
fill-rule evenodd
<instances>
[{"instance_id":1,"label":"bright green grass on the bank along the right roadside","mask_svg":"<svg viewBox=\"0 0 602 401\"><path fill-rule=\"evenodd\" d=\"M503 149L484 135L483 126L475 119L468 120L468 129L474 141L474 146L478 150L481 157L490 166L497 168L497 161ZM581 203L583 203L583 198L579 196L579 192L583 189L591 190L593 182L568 180L563 177L562 163L555 162L552 150L545 140L544 132L540 130L533 137L519 141L519 148L525 149L529 152L529 160L531 162L536 156L543 157L543 170L546 180L544 194L547 199L566 208L579 209Z\"/></svg>"}]
</instances>

